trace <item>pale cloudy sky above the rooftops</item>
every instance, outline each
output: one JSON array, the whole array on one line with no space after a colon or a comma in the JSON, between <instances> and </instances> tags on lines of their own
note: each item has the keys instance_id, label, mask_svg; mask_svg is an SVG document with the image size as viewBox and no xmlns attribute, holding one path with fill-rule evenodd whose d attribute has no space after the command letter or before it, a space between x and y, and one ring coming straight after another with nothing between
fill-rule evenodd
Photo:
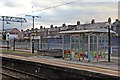
<instances>
[{"instance_id":1,"label":"pale cloudy sky above the rooftops","mask_svg":"<svg viewBox=\"0 0 120 80\"><path fill-rule=\"evenodd\" d=\"M62 5L56 8L46 9L57 5L74 2L67 5ZM89 23L92 19L96 22L107 21L108 17L112 21L118 18L118 2L119 0L0 0L0 16L13 16L26 18L27 23L6 24L5 29L15 28L30 29L32 28L32 17L25 15L40 16L35 18L35 28L40 26L49 28L53 26ZM0 21L0 29L2 29L2 21Z\"/></svg>"}]
</instances>

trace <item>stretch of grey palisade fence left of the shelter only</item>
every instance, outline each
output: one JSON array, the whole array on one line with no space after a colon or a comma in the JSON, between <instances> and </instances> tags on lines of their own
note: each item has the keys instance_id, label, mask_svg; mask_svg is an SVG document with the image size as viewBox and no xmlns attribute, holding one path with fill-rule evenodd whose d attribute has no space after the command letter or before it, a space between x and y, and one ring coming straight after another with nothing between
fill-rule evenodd
<instances>
[{"instance_id":1,"label":"stretch of grey palisade fence left of the shelter only","mask_svg":"<svg viewBox=\"0 0 120 80\"><path fill-rule=\"evenodd\" d=\"M2 43L1 47L7 48L8 42L7 41L0 41ZM14 40L9 41L9 48L13 49L14 47ZM15 49L25 49L31 50L32 49L32 41L31 40L15 40ZM62 43L40 43L38 40L34 42L34 49L35 50L50 50L50 49L62 49Z\"/></svg>"}]
</instances>

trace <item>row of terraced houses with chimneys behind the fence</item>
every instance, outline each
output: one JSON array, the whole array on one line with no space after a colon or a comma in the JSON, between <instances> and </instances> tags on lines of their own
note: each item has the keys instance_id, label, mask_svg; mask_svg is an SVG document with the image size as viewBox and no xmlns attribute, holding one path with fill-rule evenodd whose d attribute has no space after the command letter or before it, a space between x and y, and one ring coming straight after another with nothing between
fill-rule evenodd
<instances>
[{"instance_id":1,"label":"row of terraced houses with chimneys behind the fence","mask_svg":"<svg viewBox=\"0 0 120 80\"><path fill-rule=\"evenodd\" d=\"M75 25L66 25L65 23L62 26L54 26L50 25L50 28L45 28L40 26L40 28L33 28L27 30L18 30L17 28L5 29L5 35L10 34L10 37L18 38L18 39L31 39L34 31L34 36L41 37L41 39L46 38L61 38L59 34L60 31L69 31L69 30L90 30L90 29L98 29L98 28L107 28L106 22L95 22L94 19L91 20L90 23L81 24L80 21L77 21ZM114 30L118 36L120 36L120 21L118 19L112 23L112 30ZM2 34L2 31L0 32Z\"/></svg>"}]
</instances>

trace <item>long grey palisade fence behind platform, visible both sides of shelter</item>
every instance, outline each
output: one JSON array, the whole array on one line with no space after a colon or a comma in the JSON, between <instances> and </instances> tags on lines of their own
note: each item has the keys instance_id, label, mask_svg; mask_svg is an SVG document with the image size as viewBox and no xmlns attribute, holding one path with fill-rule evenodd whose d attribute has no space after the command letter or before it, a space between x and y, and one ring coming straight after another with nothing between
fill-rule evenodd
<instances>
[{"instance_id":1,"label":"long grey palisade fence behind platform, visible both sides of shelter","mask_svg":"<svg viewBox=\"0 0 120 80\"><path fill-rule=\"evenodd\" d=\"M7 41L0 41L0 47L8 47ZM13 49L14 41L9 41L10 49ZM111 38L111 45L112 45L112 55L118 56L120 54L120 37L113 37ZM87 45L86 45L87 46ZM16 49L32 49L32 41L31 40L15 40L15 48ZM49 42L40 43L39 40L36 40L34 43L35 50L50 50L50 49L62 49L61 42L55 42L52 40Z\"/></svg>"}]
</instances>

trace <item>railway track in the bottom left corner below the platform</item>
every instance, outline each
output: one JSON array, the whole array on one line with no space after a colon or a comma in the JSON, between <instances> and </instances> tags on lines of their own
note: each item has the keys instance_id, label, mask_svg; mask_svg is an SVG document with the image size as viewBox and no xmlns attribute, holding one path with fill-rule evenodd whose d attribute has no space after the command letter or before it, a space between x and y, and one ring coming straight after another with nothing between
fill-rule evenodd
<instances>
[{"instance_id":1,"label":"railway track in the bottom left corner below the platform","mask_svg":"<svg viewBox=\"0 0 120 80\"><path fill-rule=\"evenodd\" d=\"M2 80L46 80L37 75L2 66Z\"/></svg>"}]
</instances>

